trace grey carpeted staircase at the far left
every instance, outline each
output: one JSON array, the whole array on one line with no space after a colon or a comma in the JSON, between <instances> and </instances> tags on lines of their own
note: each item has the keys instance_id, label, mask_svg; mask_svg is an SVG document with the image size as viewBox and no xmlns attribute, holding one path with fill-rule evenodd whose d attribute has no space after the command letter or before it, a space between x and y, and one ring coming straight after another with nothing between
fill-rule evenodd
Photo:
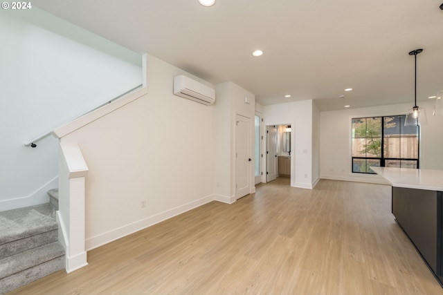
<instances>
[{"instance_id":1,"label":"grey carpeted staircase at the far left","mask_svg":"<svg viewBox=\"0 0 443 295\"><path fill-rule=\"evenodd\" d=\"M48 204L0 212L0 295L64 269L55 222L58 190L48 194Z\"/></svg>"}]
</instances>

